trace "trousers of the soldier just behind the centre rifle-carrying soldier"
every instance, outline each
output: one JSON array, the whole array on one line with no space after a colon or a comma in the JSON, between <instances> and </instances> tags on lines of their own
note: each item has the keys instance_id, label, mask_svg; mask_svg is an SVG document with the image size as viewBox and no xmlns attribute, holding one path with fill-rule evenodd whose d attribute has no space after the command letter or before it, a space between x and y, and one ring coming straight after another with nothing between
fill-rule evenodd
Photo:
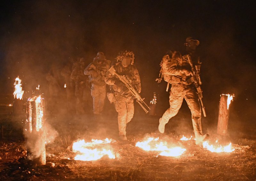
<instances>
[{"instance_id":1,"label":"trousers of the soldier just behind the centre rifle-carrying soldier","mask_svg":"<svg viewBox=\"0 0 256 181\"><path fill-rule=\"evenodd\" d=\"M93 113L100 114L103 111L106 98L106 85L99 86L92 83L91 95L93 99Z\"/></svg>"}]
</instances>

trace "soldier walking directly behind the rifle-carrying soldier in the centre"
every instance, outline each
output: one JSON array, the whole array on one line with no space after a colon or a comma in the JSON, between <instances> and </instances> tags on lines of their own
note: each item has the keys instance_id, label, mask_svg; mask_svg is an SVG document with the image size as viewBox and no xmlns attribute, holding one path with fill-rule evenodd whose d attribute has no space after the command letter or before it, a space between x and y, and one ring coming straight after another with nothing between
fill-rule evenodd
<instances>
[{"instance_id":1,"label":"soldier walking directly behind the rifle-carrying soldier in the centre","mask_svg":"<svg viewBox=\"0 0 256 181\"><path fill-rule=\"evenodd\" d=\"M104 108L106 98L106 83L104 80L109 68L110 61L106 59L104 53L98 52L93 62L84 69L84 75L89 76L92 84L91 95L94 115L101 114Z\"/></svg>"}]
</instances>

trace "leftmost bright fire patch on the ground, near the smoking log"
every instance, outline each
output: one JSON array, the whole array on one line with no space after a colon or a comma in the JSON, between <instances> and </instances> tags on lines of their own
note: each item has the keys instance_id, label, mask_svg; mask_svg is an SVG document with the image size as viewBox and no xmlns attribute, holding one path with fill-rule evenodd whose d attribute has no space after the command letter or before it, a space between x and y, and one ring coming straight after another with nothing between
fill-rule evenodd
<instances>
[{"instance_id":1,"label":"leftmost bright fire patch on the ground, near the smoking log","mask_svg":"<svg viewBox=\"0 0 256 181\"><path fill-rule=\"evenodd\" d=\"M103 148L103 144L108 144L112 139L106 138L105 140L94 140L91 142L85 142L84 140L78 140L73 143L73 152L78 153L75 156L75 160L92 161L102 158L107 155L111 159L115 159L116 156L112 149ZM95 148L98 147L98 148Z\"/></svg>"}]
</instances>

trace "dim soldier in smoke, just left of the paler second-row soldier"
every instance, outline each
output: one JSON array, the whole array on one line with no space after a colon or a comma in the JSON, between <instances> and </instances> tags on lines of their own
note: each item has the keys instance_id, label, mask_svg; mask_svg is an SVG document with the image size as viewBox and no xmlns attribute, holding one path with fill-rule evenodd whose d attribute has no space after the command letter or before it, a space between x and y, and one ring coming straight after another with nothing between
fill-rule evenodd
<instances>
[{"instance_id":1,"label":"dim soldier in smoke, just left of the paler second-row soldier","mask_svg":"<svg viewBox=\"0 0 256 181\"><path fill-rule=\"evenodd\" d=\"M85 113L85 105L88 103L88 77L84 75L85 62L84 58L80 58L79 64L73 69L71 79L75 81L75 95L76 95L76 114L81 115ZM86 101L87 100L87 101Z\"/></svg>"}]
</instances>

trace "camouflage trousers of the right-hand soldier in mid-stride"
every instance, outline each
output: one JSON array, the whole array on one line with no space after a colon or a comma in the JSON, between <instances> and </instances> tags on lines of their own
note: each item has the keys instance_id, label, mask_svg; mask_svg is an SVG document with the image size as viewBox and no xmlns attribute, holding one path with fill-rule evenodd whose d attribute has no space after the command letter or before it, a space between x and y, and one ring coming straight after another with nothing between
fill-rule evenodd
<instances>
[{"instance_id":1,"label":"camouflage trousers of the right-hand soldier in mid-stride","mask_svg":"<svg viewBox=\"0 0 256 181\"><path fill-rule=\"evenodd\" d=\"M196 90L192 85L172 84L169 97L170 108L164 112L161 122L164 124L168 123L169 119L179 112L183 98L185 98L192 114L192 123L195 135L202 135L201 107Z\"/></svg>"}]
</instances>

